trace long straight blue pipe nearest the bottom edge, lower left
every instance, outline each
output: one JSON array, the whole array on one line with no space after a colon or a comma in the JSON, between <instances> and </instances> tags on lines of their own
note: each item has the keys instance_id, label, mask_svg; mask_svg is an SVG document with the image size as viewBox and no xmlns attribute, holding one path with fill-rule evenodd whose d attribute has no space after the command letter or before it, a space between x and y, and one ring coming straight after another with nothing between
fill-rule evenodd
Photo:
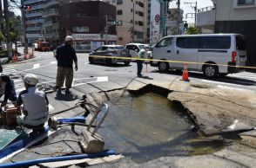
<instances>
[{"instance_id":1,"label":"long straight blue pipe nearest the bottom edge, lower left","mask_svg":"<svg viewBox=\"0 0 256 168\"><path fill-rule=\"evenodd\" d=\"M114 154L116 154L114 150L108 150L106 152L98 152L93 154L81 154L81 155L62 156L62 157L53 157L53 158L38 158L34 160L21 161L17 163L3 164L3 165L0 165L0 168L23 167L23 166L37 165L39 163L57 162L57 161L82 159L82 158L98 158L98 157L104 157L104 156L109 156Z\"/></svg>"}]
</instances>

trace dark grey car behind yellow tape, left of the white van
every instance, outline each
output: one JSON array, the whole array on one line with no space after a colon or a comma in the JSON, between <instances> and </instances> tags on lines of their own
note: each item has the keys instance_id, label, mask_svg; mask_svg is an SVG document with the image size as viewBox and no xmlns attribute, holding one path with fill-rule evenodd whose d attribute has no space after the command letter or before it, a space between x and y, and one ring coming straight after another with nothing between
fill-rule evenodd
<instances>
[{"instance_id":1,"label":"dark grey car behind yellow tape, left of the white van","mask_svg":"<svg viewBox=\"0 0 256 168\"><path fill-rule=\"evenodd\" d=\"M105 56L104 58L98 56ZM127 57L128 59L117 58L117 57ZM129 65L131 62L131 55L129 55L129 50L121 45L103 45L92 51L89 55L89 62L103 62L107 65L111 65L117 62L124 62L125 65Z\"/></svg>"}]
</instances>

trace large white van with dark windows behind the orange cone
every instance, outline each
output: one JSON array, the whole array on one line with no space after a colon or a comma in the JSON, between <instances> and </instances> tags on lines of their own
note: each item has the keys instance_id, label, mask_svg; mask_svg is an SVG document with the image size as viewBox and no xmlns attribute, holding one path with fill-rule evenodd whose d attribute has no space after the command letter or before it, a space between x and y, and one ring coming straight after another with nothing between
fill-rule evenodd
<instances>
[{"instance_id":1,"label":"large white van with dark windows behind the orange cone","mask_svg":"<svg viewBox=\"0 0 256 168\"><path fill-rule=\"evenodd\" d=\"M152 59L151 65L158 66L160 71L183 69L187 62L188 70L203 72L209 78L238 73L243 68L237 66L246 66L245 37L238 34L165 36L152 48Z\"/></svg>"}]
</instances>

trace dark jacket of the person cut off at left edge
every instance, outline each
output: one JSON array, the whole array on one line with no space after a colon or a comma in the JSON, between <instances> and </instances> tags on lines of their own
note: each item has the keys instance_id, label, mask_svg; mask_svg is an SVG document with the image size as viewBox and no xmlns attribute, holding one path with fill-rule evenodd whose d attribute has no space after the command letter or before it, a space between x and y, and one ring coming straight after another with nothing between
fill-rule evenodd
<instances>
[{"instance_id":1,"label":"dark jacket of the person cut off at left edge","mask_svg":"<svg viewBox=\"0 0 256 168\"><path fill-rule=\"evenodd\" d=\"M17 95L14 87L13 81L10 79L10 76L7 74L1 74L2 81L6 82L4 87L4 98L3 101L11 100L17 101ZM0 95L2 97L2 95Z\"/></svg>"}]
</instances>

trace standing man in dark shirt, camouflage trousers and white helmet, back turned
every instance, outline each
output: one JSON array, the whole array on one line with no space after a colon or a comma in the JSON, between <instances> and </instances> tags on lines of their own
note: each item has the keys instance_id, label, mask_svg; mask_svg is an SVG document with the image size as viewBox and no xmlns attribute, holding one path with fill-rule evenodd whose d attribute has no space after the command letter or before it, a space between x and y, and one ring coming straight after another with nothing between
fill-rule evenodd
<instances>
[{"instance_id":1,"label":"standing man in dark shirt, camouflage trousers and white helmet, back turned","mask_svg":"<svg viewBox=\"0 0 256 168\"><path fill-rule=\"evenodd\" d=\"M73 82L73 61L75 63L75 69L77 71L77 55L75 49L72 48L73 37L66 36L64 45L57 47L56 59L57 59L57 79L56 87L57 94L61 94L61 87L65 81L65 94L70 94L70 88Z\"/></svg>"}]
</instances>

